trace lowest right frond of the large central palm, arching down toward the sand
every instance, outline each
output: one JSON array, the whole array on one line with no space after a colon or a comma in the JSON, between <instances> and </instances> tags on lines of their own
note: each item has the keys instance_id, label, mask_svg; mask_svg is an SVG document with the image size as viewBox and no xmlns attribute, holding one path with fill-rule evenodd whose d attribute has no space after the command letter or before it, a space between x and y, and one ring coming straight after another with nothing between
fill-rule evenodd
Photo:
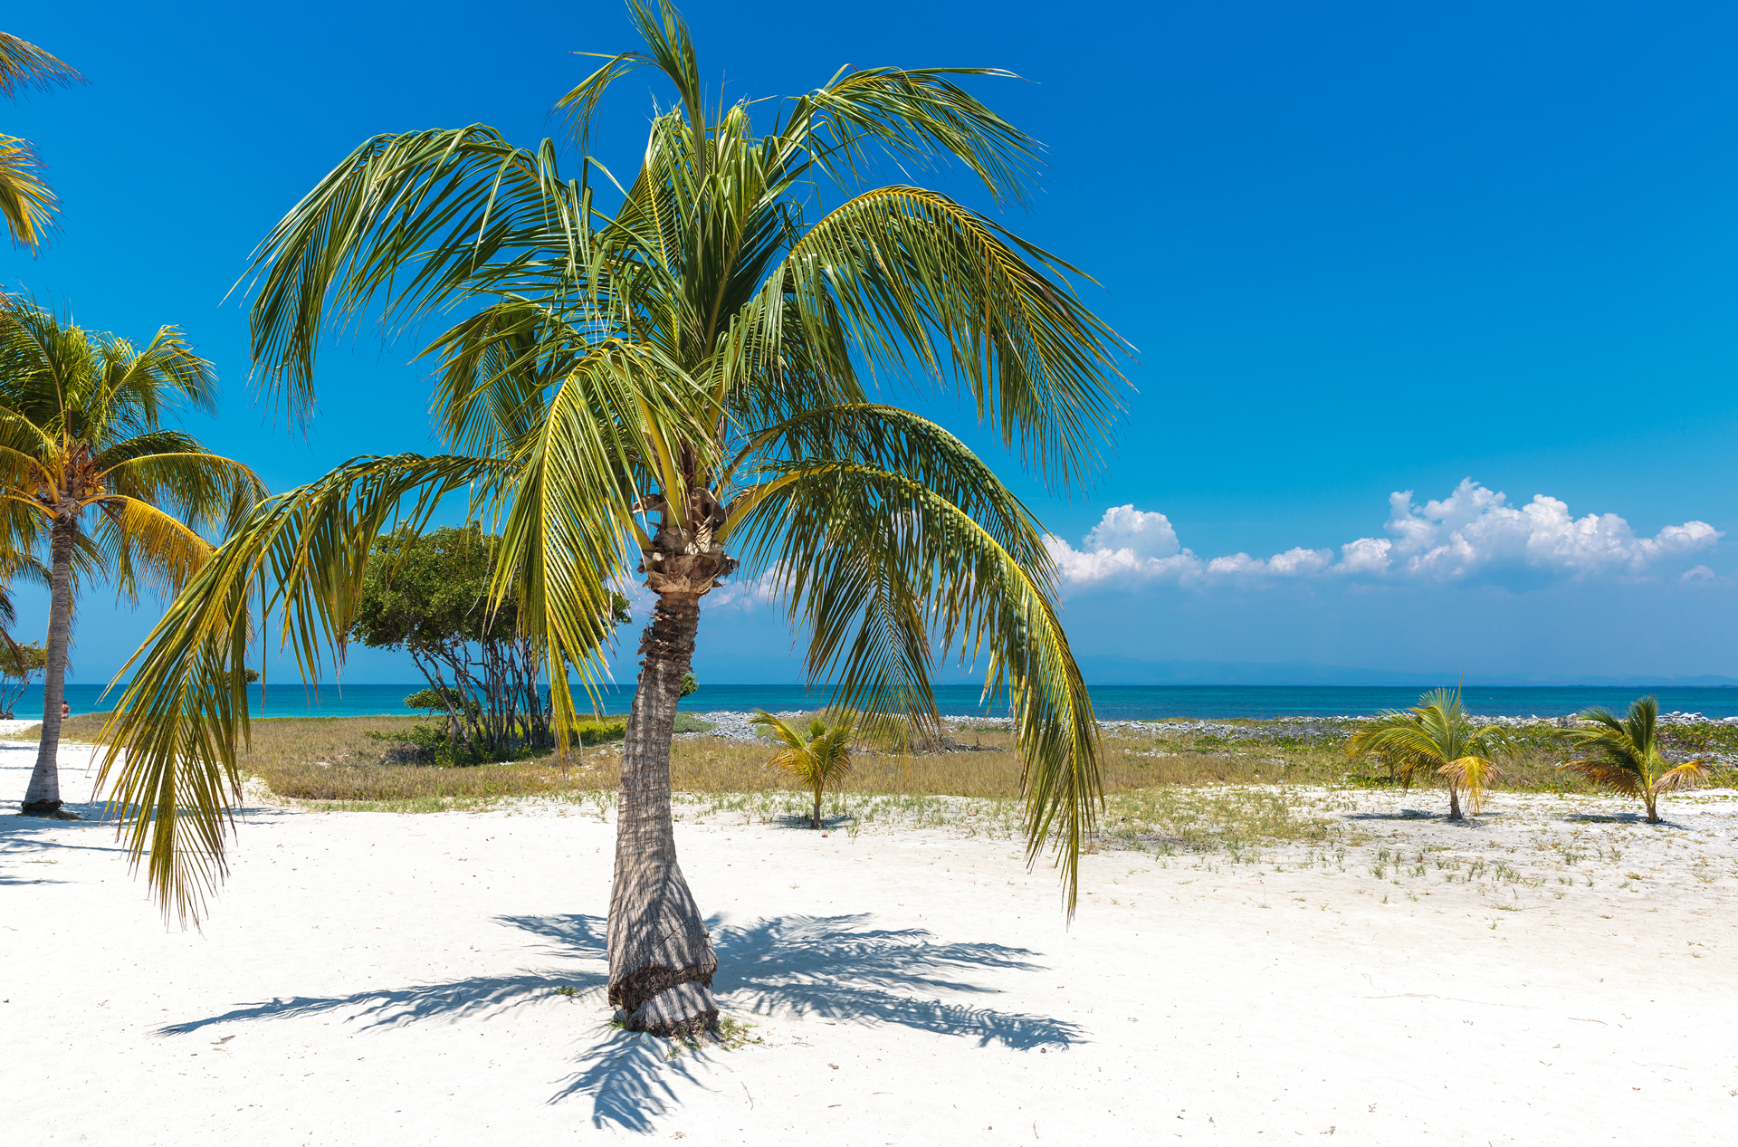
<instances>
[{"instance_id":1,"label":"lowest right frond of the large central palm, arching down toward the sand","mask_svg":"<svg viewBox=\"0 0 1738 1147\"><path fill-rule=\"evenodd\" d=\"M791 469L744 520L749 561L808 629L808 676L836 683L836 707L909 707L933 730L935 648L987 662L985 697L1006 699L1027 763L1031 855L1055 846L1072 905L1100 799L1098 732L1048 593L1048 556L999 483L973 494L1001 492L1003 514L975 518L945 497L945 480L919 474L855 462Z\"/></svg>"}]
</instances>

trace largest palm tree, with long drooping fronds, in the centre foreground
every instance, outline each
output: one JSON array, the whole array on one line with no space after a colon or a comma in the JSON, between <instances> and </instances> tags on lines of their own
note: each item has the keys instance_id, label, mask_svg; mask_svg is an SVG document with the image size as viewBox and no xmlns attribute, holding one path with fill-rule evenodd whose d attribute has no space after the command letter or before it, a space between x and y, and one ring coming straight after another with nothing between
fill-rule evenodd
<instances>
[{"instance_id":1,"label":"largest palm tree, with long drooping fronds, in the centre foreground","mask_svg":"<svg viewBox=\"0 0 1738 1147\"><path fill-rule=\"evenodd\" d=\"M570 177L551 141L521 149L488 127L379 136L264 242L255 365L292 417L309 410L328 316L459 311L424 351L450 454L356 459L264 504L136 655L109 761L125 761L115 794L136 801L130 848L149 852L165 911L198 912L224 871L222 799L247 737L231 699L249 586L268 582L313 676L381 527L466 490L501 523L494 593L514 594L563 683L561 728L577 719L568 671L598 680L610 589L641 575L657 598L622 747L610 999L627 1027L673 1034L714 1022L718 959L676 864L671 725L700 600L732 575L782 593L838 707L907 699L939 723L939 650L982 657L1018 730L1029 848L1057 846L1072 905L1097 725L1043 532L965 443L874 401L869 379L958 384L1071 488L1118 412L1124 348L1067 264L937 191L864 189L879 153L958 162L1017 200L1036 144L956 83L1005 73L841 70L756 130L747 101L707 103L674 9L633 0L629 14L645 50L607 57L560 101L584 146L614 80L653 68L674 85L626 186L594 160Z\"/></svg>"}]
</instances>

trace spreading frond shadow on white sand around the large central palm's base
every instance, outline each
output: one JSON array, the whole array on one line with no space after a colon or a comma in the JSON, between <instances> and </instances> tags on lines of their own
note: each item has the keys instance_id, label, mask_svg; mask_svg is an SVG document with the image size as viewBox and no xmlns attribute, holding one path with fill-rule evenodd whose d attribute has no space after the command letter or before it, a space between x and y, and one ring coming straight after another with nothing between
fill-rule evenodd
<instances>
[{"instance_id":1,"label":"spreading frond shadow on white sand around the large central palm's base","mask_svg":"<svg viewBox=\"0 0 1738 1147\"><path fill-rule=\"evenodd\" d=\"M501 916L497 923L542 937L546 952L567 965L560 971L471 977L448 984L294 996L235 1008L202 1020L158 1029L184 1034L212 1024L344 1013L362 1027L400 1027L459 1017L488 1018L549 998L558 987L593 996L603 1004L608 980L605 921L596 916ZM1067 1020L978 1006L972 996L999 989L972 982L972 973L1039 971L1038 952L1003 944L937 940L921 928L874 928L869 914L780 916L753 925L709 921L720 970L713 982L720 1004L735 1013L822 1017L836 1024L899 1024L918 1031L965 1036L978 1046L1031 1050L1065 1046L1083 1038ZM574 966L568 961L577 961ZM966 996L947 1001L939 994ZM713 1055L704 1044L671 1055L666 1039L598 1024L591 1046L575 1058L551 1104L591 1097L593 1126L652 1131L652 1119L680 1104L678 1079L699 1083L695 1069ZM680 1048L678 1048L680 1050Z\"/></svg>"}]
</instances>

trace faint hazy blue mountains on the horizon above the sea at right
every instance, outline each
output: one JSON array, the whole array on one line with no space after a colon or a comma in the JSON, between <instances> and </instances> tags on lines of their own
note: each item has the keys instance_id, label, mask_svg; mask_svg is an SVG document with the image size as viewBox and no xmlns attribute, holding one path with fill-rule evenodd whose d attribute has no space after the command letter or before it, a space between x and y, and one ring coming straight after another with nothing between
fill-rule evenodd
<instances>
[{"instance_id":1,"label":"faint hazy blue mountains on the horizon above the sea at right","mask_svg":"<svg viewBox=\"0 0 1738 1147\"><path fill-rule=\"evenodd\" d=\"M1138 660L1133 657L1081 657L1081 674L1088 685L1453 685L1458 671L1396 673L1392 669L1356 669L1324 666L1316 660ZM1509 686L1613 686L1613 688L1738 688L1738 678L1702 674L1672 676L1547 676L1536 673L1469 673L1467 685Z\"/></svg>"}]
</instances>

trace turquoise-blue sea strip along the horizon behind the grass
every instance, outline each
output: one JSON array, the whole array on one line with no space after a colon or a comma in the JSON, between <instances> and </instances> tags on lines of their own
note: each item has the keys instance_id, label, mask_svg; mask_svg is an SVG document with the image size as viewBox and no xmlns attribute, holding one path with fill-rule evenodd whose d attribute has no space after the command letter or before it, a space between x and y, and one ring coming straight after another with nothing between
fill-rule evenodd
<instances>
[{"instance_id":1,"label":"turquoise-blue sea strip along the horizon behind the grass","mask_svg":"<svg viewBox=\"0 0 1738 1147\"><path fill-rule=\"evenodd\" d=\"M1449 683L1453 685L1453 683ZM407 685L323 685L318 693L299 685L269 685L261 709L255 686L255 716L365 716L379 713L407 714L405 697L419 683ZM1335 686L1335 685L1095 685L1093 706L1100 719L1130 721L1156 718L1276 718L1276 716L1359 716L1380 709L1403 709L1418 700L1422 688L1394 686ZM66 697L75 713L99 707L101 685L68 683ZM1637 697L1655 695L1662 711L1700 713L1707 718L1738 716L1738 688L1592 688L1592 686L1469 686L1463 700L1472 713L1484 716L1562 716L1589 706L1623 709ZM810 709L826 699L822 692L806 692L801 685L702 685L697 693L683 699L687 713L711 709ZM101 707L109 707L115 693ZM617 688L607 695L608 713L626 713L633 700L631 690ZM937 688L937 702L944 714L968 716L985 713L978 706L975 685L944 685ZM33 718L42 713L42 686L33 685L14 713ZM991 707L987 713L1001 713Z\"/></svg>"}]
</instances>

